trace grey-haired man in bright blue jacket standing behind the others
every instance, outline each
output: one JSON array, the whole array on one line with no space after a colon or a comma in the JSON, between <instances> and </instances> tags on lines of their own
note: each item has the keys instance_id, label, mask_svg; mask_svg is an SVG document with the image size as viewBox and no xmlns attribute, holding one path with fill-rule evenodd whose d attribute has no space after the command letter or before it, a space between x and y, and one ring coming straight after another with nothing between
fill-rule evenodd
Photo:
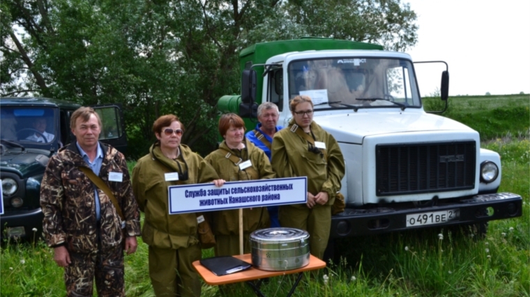
<instances>
[{"instance_id":1,"label":"grey-haired man in bright blue jacket standing behind the others","mask_svg":"<svg viewBox=\"0 0 530 297\"><path fill-rule=\"evenodd\" d=\"M274 134L283 127L276 126L280 118L280 111L278 106L272 102L264 102L259 104L257 108L256 129L248 131L245 137L254 145L262 149L268 156L268 161L271 161L271 144L273 142ZM268 215L271 217L271 227L280 227L278 221L278 207L267 207Z\"/></svg>"}]
</instances>

